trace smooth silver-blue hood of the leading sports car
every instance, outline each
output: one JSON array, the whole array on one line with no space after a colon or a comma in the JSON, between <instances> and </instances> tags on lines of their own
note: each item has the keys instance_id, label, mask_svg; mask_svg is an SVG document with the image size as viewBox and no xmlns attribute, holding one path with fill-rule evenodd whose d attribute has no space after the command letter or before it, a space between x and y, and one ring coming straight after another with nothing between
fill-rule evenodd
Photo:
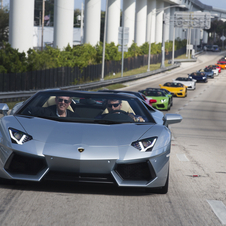
<instances>
[{"instance_id":1,"label":"smooth silver-blue hood of the leading sports car","mask_svg":"<svg viewBox=\"0 0 226 226\"><path fill-rule=\"evenodd\" d=\"M165 127L151 123L103 125L58 122L35 117L11 117L14 119L5 120L5 129L11 127L33 137L32 141L23 145L12 144L12 148L40 156L71 158L76 155L75 158L80 158L77 156L79 155L78 151L75 154L75 150L79 148L88 150L86 151L87 155L83 155L85 158L89 156L102 158L106 155L108 158L115 158L120 150L123 150L123 153L130 150L132 153L138 154L137 149L131 146L132 142L148 137L160 137L162 134L169 133ZM158 150L169 141L169 139L165 139L160 142L159 139L155 148ZM14 145L16 146L14 147ZM148 153L146 154L148 155Z\"/></svg>"}]
</instances>

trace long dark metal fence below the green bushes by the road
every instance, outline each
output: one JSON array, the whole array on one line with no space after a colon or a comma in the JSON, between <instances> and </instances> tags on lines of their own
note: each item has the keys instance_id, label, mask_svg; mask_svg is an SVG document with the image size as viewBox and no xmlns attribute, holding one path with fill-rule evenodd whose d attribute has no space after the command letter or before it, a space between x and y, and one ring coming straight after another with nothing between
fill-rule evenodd
<instances>
[{"instance_id":1,"label":"long dark metal fence below the green bushes by the road","mask_svg":"<svg viewBox=\"0 0 226 226\"><path fill-rule=\"evenodd\" d=\"M175 51L175 57L186 52L186 48ZM172 58L172 52L165 59ZM150 63L160 63L161 54L152 55ZM137 56L124 59L124 71L140 68L148 64L148 56ZM101 78L102 65L89 65L83 70L78 67L52 68L23 73L0 74L0 92L29 91L87 83ZM121 72L121 61L105 62L104 75Z\"/></svg>"}]
</instances>

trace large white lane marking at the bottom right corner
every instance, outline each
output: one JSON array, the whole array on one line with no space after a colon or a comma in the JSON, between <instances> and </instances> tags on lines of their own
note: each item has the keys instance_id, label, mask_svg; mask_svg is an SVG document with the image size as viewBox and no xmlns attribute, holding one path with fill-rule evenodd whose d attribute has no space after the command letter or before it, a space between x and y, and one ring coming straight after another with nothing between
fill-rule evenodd
<instances>
[{"instance_id":1,"label":"large white lane marking at the bottom right corner","mask_svg":"<svg viewBox=\"0 0 226 226\"><path fill-rule=\"evenodd\" d=\"M223 225L226 225L226 206L224 203L218 200L207 200L207 202L211 206L213 212L219 218L220 222Z\"/></svg>"}]
</instances>

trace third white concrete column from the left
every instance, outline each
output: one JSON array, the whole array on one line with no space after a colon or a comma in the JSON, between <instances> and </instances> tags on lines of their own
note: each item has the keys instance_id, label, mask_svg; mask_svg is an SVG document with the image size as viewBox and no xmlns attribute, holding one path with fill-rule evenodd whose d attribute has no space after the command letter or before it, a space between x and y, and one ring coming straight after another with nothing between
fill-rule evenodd
<instances>
[{"instance_id":1,"label":"third white concrete column from the left","mask_svg":"<svg viewBox=\"0 0 226 226\"><path fill-rule=\"evenodd\" d=\"M101 0L85 0L84 43L95 46L100 41L100 19Z\"/></svg>"}]
</instances>

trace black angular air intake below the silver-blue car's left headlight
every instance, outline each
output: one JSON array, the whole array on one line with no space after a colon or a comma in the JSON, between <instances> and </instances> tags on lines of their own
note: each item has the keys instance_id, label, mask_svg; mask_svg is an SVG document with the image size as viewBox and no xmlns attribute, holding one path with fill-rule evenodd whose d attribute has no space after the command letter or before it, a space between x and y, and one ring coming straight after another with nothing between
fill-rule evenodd
<instances>
[{"instance_id":1,"label":"black angular air intake below the silver-blue car's left headlight","mask_svg":"<svg viewBox=\"0 0 226 226\"><path fill-rule=\"evenodd\" d=\"M5 164L4 169L13 174L37 175L47 168L44 158L12 153Z\"/></svg>"}]
</instances>

